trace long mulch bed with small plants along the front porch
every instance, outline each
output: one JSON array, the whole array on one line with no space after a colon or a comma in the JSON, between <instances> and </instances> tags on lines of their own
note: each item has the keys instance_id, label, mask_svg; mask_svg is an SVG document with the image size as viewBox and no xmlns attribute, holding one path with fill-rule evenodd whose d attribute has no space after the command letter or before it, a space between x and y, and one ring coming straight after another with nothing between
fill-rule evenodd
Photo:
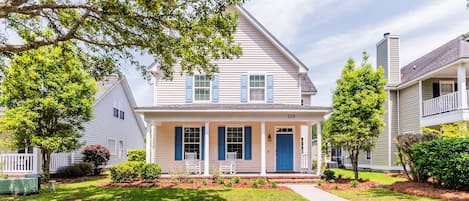
<instances>
[{"instance_id":1,"label":"long mulch bed with small plants along the front porch","mask_svg":"<svg viewBox=\"0 0 469 201\"><path fill-rule=\"evenodd\" d=\"M241 180L239 184L233 184L231 187L228 187L223 184L217 184L214 181L207 180L207 185L204 185L202 181L195 180L193 183L189 182L177 182L176 180L158 180L153 183L147 183L143 181L135 181L132 183L112 183L112 182L103 182L98 183L99 187L118 187L118 188L185 188L185 189L199 189L199 188L253 188L251 182L244 184L244 181ZM253 188L254 189L254 188ZM286 186L277 185L275 188L272 188L270 183L266 182L264 185L259 185L256 189L273 189L273 190L289 190L290 188Z\"/></svg>"}]
</instances>

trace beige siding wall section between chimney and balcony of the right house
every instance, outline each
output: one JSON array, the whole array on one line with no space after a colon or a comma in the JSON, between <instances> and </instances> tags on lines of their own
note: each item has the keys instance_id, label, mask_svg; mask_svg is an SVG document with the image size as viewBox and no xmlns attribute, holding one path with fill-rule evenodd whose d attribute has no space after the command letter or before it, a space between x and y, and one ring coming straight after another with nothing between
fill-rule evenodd
<instances>
[{"instance_id":1,"label":"beige siding wall section between chimney and balcony of the right house","mask_svg":"<svg viewBox=\"0 0 469 201\"><path fill-rule=\"evenodd\" d=\"M399 134L420 131L418 84L400 90L399 113Z\"/></svg>"}]
</instances>

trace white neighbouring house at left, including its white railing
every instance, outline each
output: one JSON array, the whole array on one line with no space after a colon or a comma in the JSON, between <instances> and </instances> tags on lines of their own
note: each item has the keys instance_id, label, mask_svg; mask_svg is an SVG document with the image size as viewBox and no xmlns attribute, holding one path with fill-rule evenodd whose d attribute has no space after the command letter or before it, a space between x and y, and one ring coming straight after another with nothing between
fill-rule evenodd
<instances>
[{"instance_id":1,"label":"white neighbouring house at left, including its white railing","mask_svg":"<svg viewBox=\"0 0 469 201\"><path fill-rule=\"evenodd\" d=\"M84 146L101 144L107 147L111 152L108 165L114 165L127 160L128 149L145 148L145 125L140 115L133 111L135 99L125 77L109 76L97 82L96 86L94 118L84 124L81 141ZM0 169L4 173L37 172L40 171L39 157L36 148L1 153L3 166ZM53 154L51 172L81 159L80 150Z\"/></svg>"}]
</instances>

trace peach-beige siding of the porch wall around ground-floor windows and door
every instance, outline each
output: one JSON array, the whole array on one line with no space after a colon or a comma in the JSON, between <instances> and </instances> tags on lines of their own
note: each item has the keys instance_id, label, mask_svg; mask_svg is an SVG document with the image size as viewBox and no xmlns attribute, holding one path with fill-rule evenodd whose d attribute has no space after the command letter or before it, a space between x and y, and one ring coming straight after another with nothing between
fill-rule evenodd
<instances>
[{"instance_id":1,"label":"peach-beige siding of the porch wall around ground-floor windows and door","mask_svg":"<svg viewBox=\"0 0 469 201\"><path fill-rule=\"evenodd\" d=\"M294 170L300 169L300 123L291 122L266 122L266 138L270 134L272 139L266 139L266 166L267 172L275 172L275 127L293 127L294 128ZM157 127L156 137L156 163L161 165L163 172L170 170L184 169L184 161L174 160L174 130L176 126L204 126L203 122L194 123L162 123ZM219 126L251 126L252 127L252 160L238 160L238 172L260 172L261 168L261 139L259 122L230 122L228 123L210 123L210 170L217 169L220 161L218 160L218 127ZM203 163L202 163L203 170Z\"/></svg>"}]
</instances>

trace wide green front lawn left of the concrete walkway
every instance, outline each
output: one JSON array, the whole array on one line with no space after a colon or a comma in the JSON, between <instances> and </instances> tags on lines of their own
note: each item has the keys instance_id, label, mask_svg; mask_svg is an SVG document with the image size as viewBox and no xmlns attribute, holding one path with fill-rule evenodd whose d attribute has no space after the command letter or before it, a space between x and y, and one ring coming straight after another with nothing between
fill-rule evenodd
<instances>
[{"instance_id":1,"label":"wide green front lawn left of the concrete walkway","mask_svg":"<svg viewBox=\"0 0 469 201\"><path fill-rule=\"evenodd\" d=\"M96 183L104 181L108 179L59 184L55 193L48 193L46 189L42 189L38 195L1 195L0 200L305 200L294 192L284 190L102 188L95 186Z\"/></svg>"}]
</instances>

